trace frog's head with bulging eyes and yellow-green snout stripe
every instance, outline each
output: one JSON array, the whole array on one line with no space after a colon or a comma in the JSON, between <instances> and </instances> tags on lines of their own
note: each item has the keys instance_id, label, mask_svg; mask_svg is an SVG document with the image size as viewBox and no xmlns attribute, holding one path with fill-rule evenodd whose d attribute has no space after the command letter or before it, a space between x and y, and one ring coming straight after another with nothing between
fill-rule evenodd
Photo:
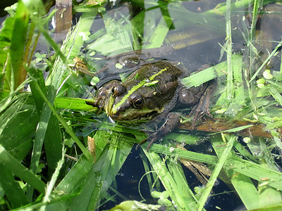
<instances>
[{"instance_id":1,"label":"frog's head with bulging eyes and yellow-green snout stripe","mask_svg":"<svg viewBox=\"0 0 282 211\"><path fill-rule=\"evenodd\" d=\"M126 124L147 122L161 113L157 106L150 106L150 99L140 94L142 83L127 89L122 84L114 87L106 106L111 119Z\"/></svg>"}]
</instances>

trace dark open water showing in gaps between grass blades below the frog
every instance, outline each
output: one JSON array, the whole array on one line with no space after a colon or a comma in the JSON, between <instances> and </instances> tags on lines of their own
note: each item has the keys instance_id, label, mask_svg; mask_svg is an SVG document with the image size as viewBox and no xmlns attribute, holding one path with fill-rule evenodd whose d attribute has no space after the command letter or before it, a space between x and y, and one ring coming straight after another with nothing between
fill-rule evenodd
<instances>
[{"instance_id":1,"label":"dark open water showing in gaps between grass blades below the frog","mask_svg":"<svg viewBox=\"0 0 282 211\"><path fill-rule=\"evenodd\" d=\"M192 172L187 170L184 166L185 177L188 181L190 188L193 190L196 186L202 186L200 181L195 177ZM138 183L141 177L145 174L145 170L142 164L142 158L140 158L140 151L135 151L135 148L131 151L128 158L125 160L120 174L116 176L117 191L121 193L126 200L142 200L138 190ZM163 188L161 191L165 191ZM205 209L210 211L217 211L219 207L221 210L244 210L244 205L240 198L236 196L235 192L228 188L223 181L218 180L213 188L214 194L210 196ZM157 204L157 200L152 198L147 184L146 177L143 178L140 184L140 192L146 199L145 203ZM114 194L114 193L113 193ZM100 207L99 210L108 210L114 207L118 203L122 203L123 198L116 197L116 202L109 202L106 205Z\"/></svg>"}]
</instances>

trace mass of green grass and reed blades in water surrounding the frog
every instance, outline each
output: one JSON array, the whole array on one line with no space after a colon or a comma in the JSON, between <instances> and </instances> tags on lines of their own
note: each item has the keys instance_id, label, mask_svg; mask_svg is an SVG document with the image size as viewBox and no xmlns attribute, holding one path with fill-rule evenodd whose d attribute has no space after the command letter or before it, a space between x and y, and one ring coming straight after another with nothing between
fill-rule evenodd
<instances>
[{"instance_id":1,"label":"mass of green grass and reed blades in water surrounding the frog","mask_svg":"<svg viewBox=\"0 0 282 211\"><path fill-rule=\"evenodd\" d=\"M73 6L81 16L61 47L47 31L55 11L46 15L41 0L7 8L0 32L1 209L213 210L207 201L221 194L213 190L219 180L243 210L282 208L282 41L276 27L282 7L278 1L226 0L195 8L195 2L83 2ZM51 52L37 52L43 42ZM211 43L220 51L200 50ZM214 117L191 130L183 115L177 132L149 152L147 143L140 146L145 174L135 184L140 196L128 200L116 176L147 136L108 122L85 101L94 101L97 72L104 82L113 73L107 70L121 72L117 55L161 47L173 51L150 56L170 54L195 70L211 65L182 82L197 87L216 79ZM209 57L191 53L197 48ZM200 143L209 149L193 150ZM188 171L203 186L192 184ZM146 179L150 196L140 188Z\"/></svg>"}]
</instances>

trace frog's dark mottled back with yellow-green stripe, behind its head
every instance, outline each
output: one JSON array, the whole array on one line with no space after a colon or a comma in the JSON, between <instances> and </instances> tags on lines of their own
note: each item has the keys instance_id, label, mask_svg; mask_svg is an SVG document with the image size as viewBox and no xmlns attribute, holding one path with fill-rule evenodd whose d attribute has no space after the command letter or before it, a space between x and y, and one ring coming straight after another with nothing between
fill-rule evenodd
<instances>
[{"instance_id":1,"label":"frog's dark mottled back with yellow-green stripe, behind its head","mask_svg":"<svg viewBox=\"0 0 282 211\"><path fill-rule=\"evenodd\" d=\"M149 109L157 108L158 113L162 113L174 107L178 95L179 77L182 73L182 70L173 63L161 60L142 65L122 84L128 87L128 90L135 89L137 84L143 84L135 93L145 98Z\"/></svg>"}]
</instances>

